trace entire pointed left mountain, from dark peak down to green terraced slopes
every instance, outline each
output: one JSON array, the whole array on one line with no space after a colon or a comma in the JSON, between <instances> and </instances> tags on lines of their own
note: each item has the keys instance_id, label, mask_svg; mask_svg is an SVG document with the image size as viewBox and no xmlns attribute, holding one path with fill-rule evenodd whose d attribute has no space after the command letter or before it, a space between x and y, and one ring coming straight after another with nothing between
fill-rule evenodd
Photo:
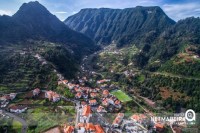
<instances>
[{"instance_id":1,"label":"entire pointed left mountain, from dark peak down to green terraced slopes","mask_svg":"<svg viewBox=\"0 0 200 133\"><path fill-rule=\"evenodd\" d=\"M0 93L55 89L58 74L75 77L81 58L98 49L37 1L24 3L13 16L0 16L0 32Z\"/></svg>"}]
</instances>

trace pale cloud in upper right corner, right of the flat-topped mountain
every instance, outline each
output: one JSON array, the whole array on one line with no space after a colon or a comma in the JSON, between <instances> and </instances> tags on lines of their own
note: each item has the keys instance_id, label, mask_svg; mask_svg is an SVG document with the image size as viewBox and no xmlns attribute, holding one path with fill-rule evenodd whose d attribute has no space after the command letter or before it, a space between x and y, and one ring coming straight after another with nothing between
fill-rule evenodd
<instances>
[{"instance_id":1,"label":"pale cloud in upper right corner, right of the flat-topped mountain","mask_svg":"<svg viewBox=\"0 0 200 133\"><path fill-rule=\"evenodd\" d=\"M200 3L164 4L163 10L169 17L177 20L200 16Z\"/></svg>"}]
</instances>

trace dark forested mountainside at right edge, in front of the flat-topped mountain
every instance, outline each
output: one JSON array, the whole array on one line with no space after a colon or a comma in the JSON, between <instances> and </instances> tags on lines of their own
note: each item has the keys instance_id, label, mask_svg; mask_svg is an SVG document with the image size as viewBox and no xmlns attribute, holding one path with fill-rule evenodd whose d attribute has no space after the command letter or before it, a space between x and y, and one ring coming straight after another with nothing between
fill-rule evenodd
<instances>
[{"instance_id":1,"label":"dark forested mountainside at right edge, in front of the flat-topped mountain","mask_svg":"<svg viewBox=\"0 0 200 133\"><path fill-rule=\"evenodd\" d=\"M147 40L145 42L145 45L139 54L140 57L144 58L140 58L140 61L145 59L143 60L144 63L142 64L151 64L152 62L159 60L162 64L179 53L187 53L187 48L190 47L195 47L192 53L199 55L199 28L199 18L191 17L178 21L175 25L164 30L158 37L154 39L154 41ZM149 36L149 38L153 37Z\"/></svg>"}]
</instances>

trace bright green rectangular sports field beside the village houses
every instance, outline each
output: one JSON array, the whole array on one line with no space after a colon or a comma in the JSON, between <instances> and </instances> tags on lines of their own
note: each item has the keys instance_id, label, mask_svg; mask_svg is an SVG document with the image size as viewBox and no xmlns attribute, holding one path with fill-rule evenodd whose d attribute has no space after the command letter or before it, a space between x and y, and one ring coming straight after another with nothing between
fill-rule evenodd
<instances>
[{"instance_id":1,"label":"bright green rectangular sports field beside the village houses","mask_svg":"<svg viewBox=\"0 0 200 133\"><path fill-rule=\"evenodd\" d=\"M116 96L121 102L128 102L132 100L128 95L126 95L126 93L121 90L113 91L111 94Z\"/></svg>"}]
</instances>

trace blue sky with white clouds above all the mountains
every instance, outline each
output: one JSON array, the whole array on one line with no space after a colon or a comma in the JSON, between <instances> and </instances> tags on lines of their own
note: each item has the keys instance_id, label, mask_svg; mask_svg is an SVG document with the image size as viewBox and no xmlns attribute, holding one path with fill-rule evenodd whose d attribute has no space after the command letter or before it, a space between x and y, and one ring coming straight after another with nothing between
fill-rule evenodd
<instances>
[{"instance_id":1,"label":"blue sky with white clouds above all the mountains","mask_svg":"<svg viewBox=\"0 0 200 133\"><path fill-rule=\"evenodd\" d=\"M13 15L23 3L35 0L0 0L0 15ZM61 21L83 8L160 6L175 21L200 16L200 0L37 0Z\"/></svg>"}]
</instances>

